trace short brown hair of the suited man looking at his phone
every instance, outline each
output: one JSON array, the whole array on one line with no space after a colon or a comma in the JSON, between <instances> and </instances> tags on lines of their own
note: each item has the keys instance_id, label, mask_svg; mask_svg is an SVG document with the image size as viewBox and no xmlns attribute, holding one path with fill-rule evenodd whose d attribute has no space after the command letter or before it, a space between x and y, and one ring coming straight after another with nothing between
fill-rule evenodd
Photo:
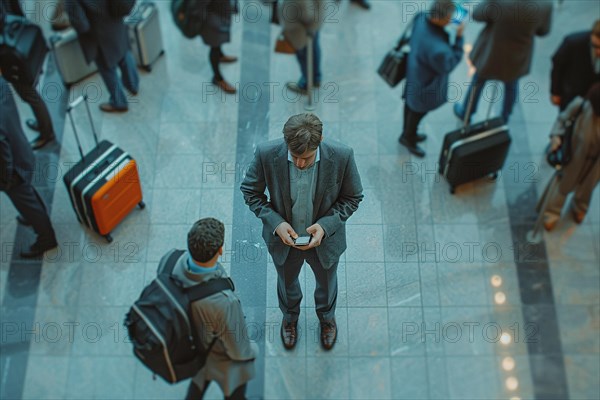
<instances>
[{"instance_id":1,"label":"short brown hair of the suited man looking at his phone","mask_svg":"<svg viewBox=\"0 0 600 400\"><path fill-rule=\"evenodd\" d=\"M293 115L283 126L283 137L288 149L297 155L316 150L321 143L323 123L314 114Z\"/></svg>"}]
</instances>

